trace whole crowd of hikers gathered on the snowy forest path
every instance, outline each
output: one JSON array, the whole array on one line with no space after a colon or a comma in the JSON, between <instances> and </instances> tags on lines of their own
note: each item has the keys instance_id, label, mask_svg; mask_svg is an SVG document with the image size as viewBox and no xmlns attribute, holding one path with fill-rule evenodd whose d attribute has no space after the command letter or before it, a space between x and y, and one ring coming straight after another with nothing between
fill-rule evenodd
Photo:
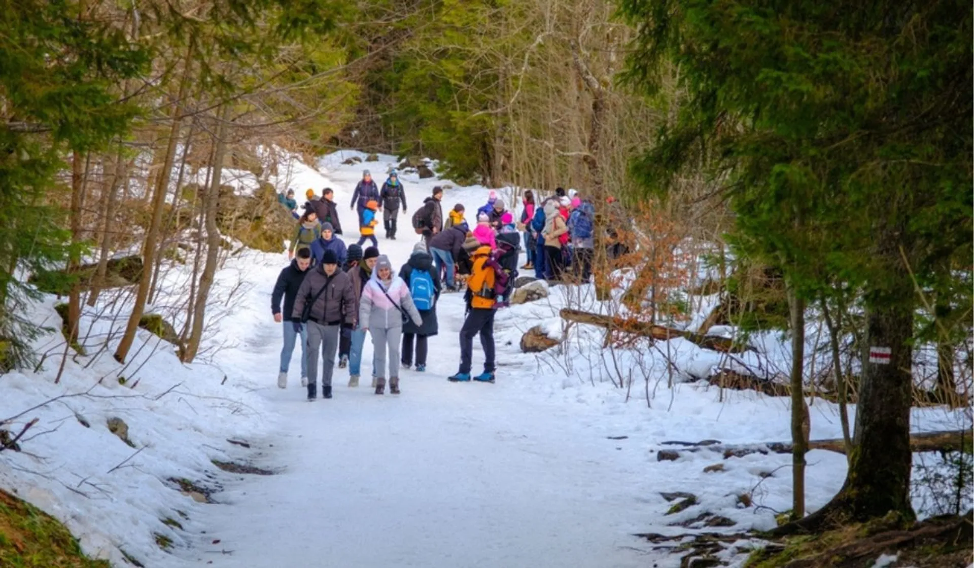
<instances>
[{"instance_id":1,"label":"whole crowd of hikers gathered on the snowy forest path","mask_svg":"<svg viewBox=\"0 0 974 568\"><path fill-rule=\"evenodd\" d=\"M476 224L471 229L462 204L443 215L443 189L434 187L412 216L419 243L396 272L390 258L380 253L373 229L381 207L386 238L395 239L399 208L405 212L407 207L395 173L390 173L379 190L370 172L363 172L352 201L361 238L349 246L339 237L342 227L334 192L325 188L316 199L314 191L308 190L309 201L288 247L291 263L281 270L271 298L275 321L283 323L278 376L282 389L287 386L298 337L301 384L307 387L309 400L318 398L319 356L322 398L332 398L336 363L341 369L349 369L349 387L357 387L362 345L368 334L374 353L372 388L376 395L384 395L388 378L390 393L398 395L400 367L413 368L415 363L417 371L426 370L429 338L438 332L436 304L440 294L459 291L463 284L467 311L460 331L460 368L448 378L453 382L493 383L494 315L509 300L522 240L527 262L520 268L533 269L537 278L562 282L569 277L569 267L573 268L575 282L590 278L594 207L578 194L570 197L562 188L540 204L533 192L526 191L517 223L504 200L491 191L487 203L477 209ZM285 199L292 199L291 195ZM371 246L363 249L366 241ZM477 335L484 351L484 367L474 376L472 345Z\"/></svg>"}]
</instances>

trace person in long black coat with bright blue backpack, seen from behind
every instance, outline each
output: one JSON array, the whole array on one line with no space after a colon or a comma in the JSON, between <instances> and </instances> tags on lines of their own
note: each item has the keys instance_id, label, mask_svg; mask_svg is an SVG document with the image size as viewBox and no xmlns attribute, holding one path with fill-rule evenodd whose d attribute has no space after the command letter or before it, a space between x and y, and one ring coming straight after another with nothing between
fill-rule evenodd
<instances>
[{"instance_id":1,"label":"person in long black coat with bright blue backpack, seen from behind","mask_svg":"<svg viewBox=\"0 0 974 568\"><path fill-rule=\"evenodd\" d=\"M432 267L432 257L423 243L413 247L409 260L399 269L399 278L409 285L409 295L413 305L420 313L423 322L412 321L402 324L402 355L399 362L408 369L413 364L413 340L416 343L416 371L426 371L428 339L436 335L439 325L436 322L436 302L439 301L439 277Z\"/></svg>"}]
</instances>

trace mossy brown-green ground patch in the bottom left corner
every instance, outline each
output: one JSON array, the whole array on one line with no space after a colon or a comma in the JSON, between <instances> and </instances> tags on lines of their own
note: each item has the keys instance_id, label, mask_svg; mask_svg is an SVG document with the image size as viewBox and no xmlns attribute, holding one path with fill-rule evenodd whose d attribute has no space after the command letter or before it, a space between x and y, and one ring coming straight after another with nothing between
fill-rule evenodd
<instances>
[{"instance_id":1,"label":"mossy brown-green ground patch in the bottom left corner","mask_svg":"<svg viewBox=\"0 0 974 568\"><path fill-rule=\"evenodd\" d=\"M10 568L110 568L92 560L53 516L0 490L0 566Z\"/></svg>"}]
</instances>

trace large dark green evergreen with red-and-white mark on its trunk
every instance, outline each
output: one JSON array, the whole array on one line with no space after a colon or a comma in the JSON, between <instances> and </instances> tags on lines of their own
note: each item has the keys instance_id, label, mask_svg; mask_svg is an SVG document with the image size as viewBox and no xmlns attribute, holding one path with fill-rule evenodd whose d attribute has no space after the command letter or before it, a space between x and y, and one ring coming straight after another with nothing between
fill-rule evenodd
<instances>
[{"instance_id":1,"label":"large dark green evergreen with red-and-white mark on its trunk","mask_svg":"<svg viewBox=\"0 0 974 568\"><path fill-rule=\"evenodd\" d=\"M639 25L628 80L679 112L634 166L647 187L686 170L725 184L731 244L804 299L855 290L866 345L849 472L808 517L912 518L916 290L956 292L971 257L968 2L621 0ZM667 64L671 63L671 64ZM969 286L964 294L969 294Z\"/></svg>"}]
</instances>

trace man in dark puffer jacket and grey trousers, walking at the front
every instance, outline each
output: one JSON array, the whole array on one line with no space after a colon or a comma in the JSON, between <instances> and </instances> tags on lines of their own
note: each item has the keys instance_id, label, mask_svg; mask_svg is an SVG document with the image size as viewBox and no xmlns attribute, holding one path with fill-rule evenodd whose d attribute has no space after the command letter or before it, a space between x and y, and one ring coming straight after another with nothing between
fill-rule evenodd
<instances>
[{"instance_id":1,"label":"man in dark puffer jacket and grey trousers, walking at the front","mask_svg":"<svg viewBox=\"0 0 974 568\"><path fill-rule=\"evenodd\" d=\"M308 400L318 394L318 348L321 350L321 398L331 398L338 337L350 335L356 322L356 296L349 275L338 270L338 256L326 249L318 267L308 273L294 298L295 331L306 326L308 344Z\"/></svg>"}]
</instances>

